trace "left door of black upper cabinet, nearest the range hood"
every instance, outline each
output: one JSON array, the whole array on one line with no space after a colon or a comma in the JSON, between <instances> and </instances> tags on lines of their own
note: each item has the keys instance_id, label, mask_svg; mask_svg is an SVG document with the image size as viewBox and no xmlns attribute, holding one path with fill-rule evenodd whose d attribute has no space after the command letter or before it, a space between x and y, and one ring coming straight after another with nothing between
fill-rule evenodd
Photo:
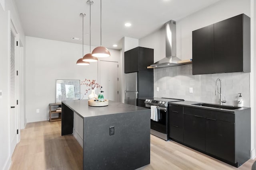
<instances>
[{"instance_id":1,"label":"left door of black upper cabinet, nearest the range hood","mask_svg":"<svg viewBox=\"0 0 256 170\"><path fill-rule=\"evenodd\" d=\"M209 25L193 31L193 74L214 72L214 26Z\"/></svg>"}]
</instances>

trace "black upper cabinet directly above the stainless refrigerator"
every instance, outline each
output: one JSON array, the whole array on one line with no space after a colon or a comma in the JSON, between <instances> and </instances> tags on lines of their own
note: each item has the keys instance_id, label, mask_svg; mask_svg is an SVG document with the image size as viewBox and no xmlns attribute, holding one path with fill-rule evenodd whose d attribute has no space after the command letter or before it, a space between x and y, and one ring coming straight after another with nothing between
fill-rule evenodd
<instances>
[{"instance_id":1,"label":"black upper cabinet directly above the stainless refrigerator","mask_svg":"<svg viewBox=\"0 0 256 170\"><path fill-rule=\"evenodd\" d=\"M151 71L147 66L154 63L154 49L136 47L124 52L124 73Z\"/></svg>"}]
</instances>

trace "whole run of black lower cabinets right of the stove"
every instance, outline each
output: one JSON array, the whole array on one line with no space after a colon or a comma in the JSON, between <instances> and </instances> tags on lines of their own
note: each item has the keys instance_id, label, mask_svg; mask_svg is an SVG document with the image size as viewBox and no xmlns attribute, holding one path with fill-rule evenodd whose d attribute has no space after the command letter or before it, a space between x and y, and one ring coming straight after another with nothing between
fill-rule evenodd
<instances>
[{"instance_id":1,"label":"whole run of black lower cabinets right of the stove","mask_svg":"<svg viewBox=\"0 0 256 170\"><path fill-rule=\"evenodd\" d=\"M182 107L184 145L235 167L250 159L250 108L225 111L186 105ZM169 107L169 134L173 139L181 137L171 126L177 120L177 115L171 112L175 112L175 108L178 107Z\"/></svg>"}]
</instances>

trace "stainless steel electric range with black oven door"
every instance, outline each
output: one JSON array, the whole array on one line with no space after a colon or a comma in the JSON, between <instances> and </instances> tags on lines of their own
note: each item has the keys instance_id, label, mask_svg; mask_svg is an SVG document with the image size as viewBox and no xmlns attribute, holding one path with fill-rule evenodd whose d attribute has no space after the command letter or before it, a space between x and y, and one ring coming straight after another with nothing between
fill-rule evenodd
<instances>
[{"instance_id":1,"label":"stainless steel electric range with black oven door","mask_svg":"<svg viewBox=\"0 0 256 170\"><path fill-rule=\"evenodd\" d=\"M184 101L183 99L173 98L146 98L145 106L151 108L156 106L158 121L150 119L150 133L164 140L169 139L169 115L168 115L168 103Z\"/></svg>"}]
</instances>

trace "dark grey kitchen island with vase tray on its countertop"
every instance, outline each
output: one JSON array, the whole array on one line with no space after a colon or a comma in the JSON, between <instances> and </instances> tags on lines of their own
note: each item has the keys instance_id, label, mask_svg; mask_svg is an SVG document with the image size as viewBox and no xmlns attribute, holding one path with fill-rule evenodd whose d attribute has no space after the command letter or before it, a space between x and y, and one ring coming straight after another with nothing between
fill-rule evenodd
<instances>
[{"instance_id":1,"label":"dark grey kitchen island with vase tray on its countertop","mask_svg":"<svg viewBox=\"0 0 256 170\"><path fill-rule=\"evenodd\" d=\"M150 109L109 101L62 101L61 135L71 135L74 113L83 119L83 169L134 170L150 164Z\"/></svg>"}]
</instances>

